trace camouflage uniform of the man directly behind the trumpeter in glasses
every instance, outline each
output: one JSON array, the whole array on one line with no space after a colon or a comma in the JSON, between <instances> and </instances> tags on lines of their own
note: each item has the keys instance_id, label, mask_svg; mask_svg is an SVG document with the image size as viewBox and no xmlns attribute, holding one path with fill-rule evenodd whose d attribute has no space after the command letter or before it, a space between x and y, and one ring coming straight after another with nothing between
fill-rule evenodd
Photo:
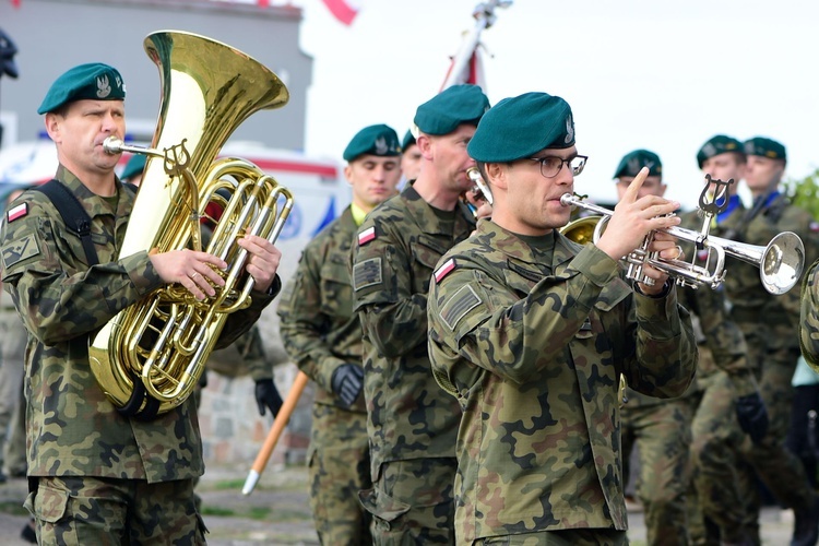
<instances>
[{"instance_id":1,"label":"camouflage uniform of the man directly behind the trumpeter in glasses","mask_svg":"<svg viewBox=\"0 0 819 546\"><path fill-rule=\"evenodd\" d=\"M460 408L430 371L427 293L435 264L473 228L462 203L437 211L408 186L367 216L353 248L375 484L361 501L377 542L454 541Z\"/></svg>"}]
</instances>

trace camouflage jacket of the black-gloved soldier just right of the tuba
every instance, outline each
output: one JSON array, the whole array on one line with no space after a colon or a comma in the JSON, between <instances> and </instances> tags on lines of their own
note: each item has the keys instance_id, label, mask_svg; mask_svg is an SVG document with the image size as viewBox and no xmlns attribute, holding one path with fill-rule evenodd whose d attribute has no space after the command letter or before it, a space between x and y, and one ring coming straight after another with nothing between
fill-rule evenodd
<instances>
[{"instance_id":1,"label":"camouflage jacket of the black-gloved soldier just right of the tuba","mask_svg":"<svg viewBox=\"0 0 819 546\"><path fill-rule=\"evenodd\" d=\"M357 226L347 207L301 252L298 268L278 302L282 341L294 363L316 381L317 404L346 410L333 393L333 371L361 364L361 322L353 312L349 252ZM366 412L364 396L351 408Z\"/></svg>"}]
</instances>

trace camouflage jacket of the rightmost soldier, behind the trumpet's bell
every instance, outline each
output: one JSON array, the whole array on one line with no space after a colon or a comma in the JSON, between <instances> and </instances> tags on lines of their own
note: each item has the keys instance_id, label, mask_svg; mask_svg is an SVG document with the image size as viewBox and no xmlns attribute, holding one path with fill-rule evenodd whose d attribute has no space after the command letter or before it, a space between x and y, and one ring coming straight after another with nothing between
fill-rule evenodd
<instances>
[{"instance_id":1,"label":"camouflage jacket of the rightmost soldier, behind the trumpet's bell","mask_svg":"<svg viewBox=\"0 0 819 546\"><path fill-rule=\"evenodd\" d=\"M793 232L805 246L806 268L819 257L819 226L804 209L791 204L780 194L762 209L750 222L745 223L746 211L736 211L727 222L713 232L714 235L731 237L737 241L761 247L762 249L782 232ZM727 275L725 288L732 304L732 317L739 323L759 323L768 328L794 332L794 335L769 335L772 347L798 345L795 334L799 320L799 283L781 296L769 294L760 281L760 268L743 261L726 258ZM802 278L802 277L800 277Z\"/></svg>"}]
</instances>

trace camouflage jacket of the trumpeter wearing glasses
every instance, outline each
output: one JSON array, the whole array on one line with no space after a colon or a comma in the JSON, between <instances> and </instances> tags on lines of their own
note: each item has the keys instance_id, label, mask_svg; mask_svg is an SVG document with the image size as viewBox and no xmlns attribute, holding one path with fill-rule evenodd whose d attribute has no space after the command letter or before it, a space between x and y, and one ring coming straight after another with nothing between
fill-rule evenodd
<instances>
[{"instance_id":1,"label":"camouflage jacket of the trumpeter wearing glasses","mask_svg":"<svg viewBox=\"0 0 819 546\"><path fill-rule=\"evenodd\" d=\"M662 397L690 384L697 347L676 288L636 294L593 245L555 234L545 253L488 221L435 278L429 354L463 410L459 543L627 529L619 377Z\"/></svg>"}]
</instances>

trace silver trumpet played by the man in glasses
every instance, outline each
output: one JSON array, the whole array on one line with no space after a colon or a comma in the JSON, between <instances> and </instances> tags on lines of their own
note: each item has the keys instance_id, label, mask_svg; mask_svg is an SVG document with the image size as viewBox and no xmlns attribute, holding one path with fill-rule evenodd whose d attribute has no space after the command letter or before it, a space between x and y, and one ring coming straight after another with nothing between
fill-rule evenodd
<instances>
[{"instance_id":1,"label":"silver trumpet played by the man in glasses","mask_svg":"<svg viewBox=\"0 0 819 546\"><path fill-rule=\"evenodd\" d=\"M596 244L613 211L603 206L587 203L582 198L571 193L565 193L560 198L565 206L579 206L601 215L594 228L593 241ZM759 268L759 278L762 286L771 294L781 295L794 287L802 276L805 265L805 246L798 235L792 232L783 232L776 235L768 246L747 245L722 237L709 235L711 217L713 214L705 213L700 232L672 226L663 229L677 239L696 245L697 249L708 250L704 259L695 252L691 262L684 260L668 260L661 258L657 252L649 252L648 248L653 241L653 232L650 233L640 248L637 248L624 258L627 263L626 276L630 280L644 284L653 284L654 280L643 275L642 270L650 265L661 270L674 278L679 286L697 288L707 285L711 288L719 287L725 280L725 256L731 256L746 263ZM699 263L698 263L699 262Z\"/></svg>"}]
</instances>

